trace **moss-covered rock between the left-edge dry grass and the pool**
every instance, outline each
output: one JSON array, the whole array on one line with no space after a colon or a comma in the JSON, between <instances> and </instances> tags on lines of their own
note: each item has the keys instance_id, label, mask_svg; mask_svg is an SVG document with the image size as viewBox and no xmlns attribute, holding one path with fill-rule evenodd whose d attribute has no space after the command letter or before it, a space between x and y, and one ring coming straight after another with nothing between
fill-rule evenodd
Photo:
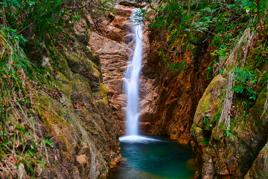
<instances>
[{"instance_id":1,"label":"moss-covered rock between the left-edge dry grass and the pool","mask_svg":"<svg viewBox=\"0 0 268 179\"><path fill-rule=\"evenodd\" d=\"M31 42L35 41L33 37ZM33 96L38 109L35 132L55 146L47 147L46 167L36 166L37 178L106 178L110 165L121 159L119 129L101 83L99 55L91 53L88 58L85 43L73 43L81 50L70 51L64 45L58 49L51 42L42 52L36 46L27 49L39 68L33 72L39 86ZM53 99L53 90L61 94L58 100ZM95 101L94 95L103 99ZM84 107L74 110L78 102Z\"/></svg>"}]
</instances>

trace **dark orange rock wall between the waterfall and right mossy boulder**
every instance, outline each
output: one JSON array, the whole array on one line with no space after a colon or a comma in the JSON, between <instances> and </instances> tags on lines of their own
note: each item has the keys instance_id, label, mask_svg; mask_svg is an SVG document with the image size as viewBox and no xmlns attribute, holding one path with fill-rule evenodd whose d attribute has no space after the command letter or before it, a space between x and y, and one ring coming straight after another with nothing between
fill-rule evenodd
<instances>
[{"instance_id":1,"label":"dark orange rock wall between the waterfall and right mossy boulder","mask_svg":"<svg viewBox=\"0 0 268 179\"><path fill-rule=\"evenodd\" d=\"M166 51L173 63L187 61L190 64L181 71L169 70L156 50L159 45L148 44L152 35L144 32L144 41L147 43L143 43L140 77L141 133L167 135L188 143L191 141L190 129L195 109L209 84L206 68L210 63L211 49L200 47L201 55L193 62L191 52Z\"/></svg>"}]
</instances>

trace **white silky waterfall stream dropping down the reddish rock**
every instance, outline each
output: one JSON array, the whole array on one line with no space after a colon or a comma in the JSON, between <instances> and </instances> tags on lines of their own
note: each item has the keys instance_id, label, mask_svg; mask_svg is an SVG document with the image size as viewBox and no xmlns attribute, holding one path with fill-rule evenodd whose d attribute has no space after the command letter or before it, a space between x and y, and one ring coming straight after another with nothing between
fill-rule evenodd
<instances>
[{"instance_id":1,"label":"white silky waterfall stream dropping down the reddish rock","mask_svg":"<svg viewBox=\"0 0 268 179\"><path fill-rule=\"evenodd\" d=\"M135 11L132 13L132 17ZM125 73L125 88L127 94L127 112L126 112L126 136L120 137L120 141L144 141L155 140L152 138L138 136L139 126L139 75L142 62L142 24L132 27L131 32L135 31L136 47L132 60L128 64Z\"/></svg>"}]
</instances>

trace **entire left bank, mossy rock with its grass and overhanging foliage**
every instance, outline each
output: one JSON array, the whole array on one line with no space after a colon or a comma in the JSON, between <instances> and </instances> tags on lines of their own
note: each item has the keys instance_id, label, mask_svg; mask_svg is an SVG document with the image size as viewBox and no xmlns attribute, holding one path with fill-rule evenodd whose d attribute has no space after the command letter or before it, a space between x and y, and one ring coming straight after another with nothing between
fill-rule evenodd
<instances>
[{"instance_id":1,"label":"entire left bank, mossy rock with its grass and overhanging foliage","mask_svg":"<svg viewBox=\"0 0 268 179\"><path fill-rule=\"evenodd\" d=\"M105 14L108 2L91 10ZM121 158L119 130L99 55L86 46L90 5L0 6L0 178L105 178Z\"/></svg>"}]
</instances>

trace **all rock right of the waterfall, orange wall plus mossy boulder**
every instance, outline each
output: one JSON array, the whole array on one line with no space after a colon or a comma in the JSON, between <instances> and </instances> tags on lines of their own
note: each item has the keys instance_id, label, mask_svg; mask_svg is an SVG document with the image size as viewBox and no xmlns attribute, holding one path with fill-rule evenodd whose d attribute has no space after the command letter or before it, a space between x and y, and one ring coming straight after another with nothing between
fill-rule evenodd
<instances>
[{"instance_id":1,"label":"all rock right of the waterfall, orange wall plus mossy boulder","mask_svg":"<svg viewBox=\"0 0 268 179\"><path fill-rule=\"evenodd\" d=\"M143 40L152 43L151 35L144 31ZM256 44L259 39L257 36L254 39ZM168 70L161 61L157 53L159 46L148 43L143 43L140 75L140 133L168 135L185 143L191 142L199 164L195 178L267 178L265 75L259 78L262 82L256 86L258 98L250 107L247 108L243 102L245 98L235 95L229 115L236 117L231 118L231 129L226 132L223 125L217 127L224 102L222 89L226 85L226 74L214 77L211 82L207 79L207 76L210 77L207 67L217 58L211 54L213 46L197 47L199 56L192 62L191 52L166 52L169 59L176 59L174 63L186 60L190 64L190 67L175 72ZM247 48L244 47L242 52ZM256 71L264 74L265 67L252 60L257 54L254 48L251 53L245 52L244 68L258 69ZM202 114L205 112L210 113L211 120L206 124Z\"/></svg>"}]
</instances>

